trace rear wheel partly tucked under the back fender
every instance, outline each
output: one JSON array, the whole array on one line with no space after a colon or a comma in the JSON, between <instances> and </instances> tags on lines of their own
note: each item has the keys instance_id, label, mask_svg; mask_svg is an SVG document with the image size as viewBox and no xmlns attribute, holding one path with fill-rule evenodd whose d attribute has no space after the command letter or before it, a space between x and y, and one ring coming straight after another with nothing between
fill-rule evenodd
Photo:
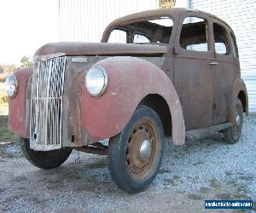
<instances>
[{"instance_id":1,"label":"rear wheel partly tucked under the back fender","mask_svg":"<svg viewBox=\"0 0 256 213\"><path fill-rule=\"evenodd\" d=\"M243 109L241 101L237 99L236 101L236 124L230 128L223 130L224 142L235 144L239 141L241 136L241 129L243 123Z\"/></svg>"}]
</instances>

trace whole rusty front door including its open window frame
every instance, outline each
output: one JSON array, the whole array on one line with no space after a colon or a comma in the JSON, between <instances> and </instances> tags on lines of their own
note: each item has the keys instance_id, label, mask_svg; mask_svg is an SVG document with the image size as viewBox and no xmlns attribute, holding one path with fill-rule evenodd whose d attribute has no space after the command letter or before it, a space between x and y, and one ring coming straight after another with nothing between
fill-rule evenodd
<instances>
[{"instance_id":1,"label":"whole rusty front door including its open window frame","mask_svg":"<svg viewBox=\"0 0 256 213\"><path fill-rule=\"evenodd\" d=\"M212 20L205 14L184 14L174 45L174 85L183 107L186 130L212 125L212 43Z\"/></svg>"}]
</instances>

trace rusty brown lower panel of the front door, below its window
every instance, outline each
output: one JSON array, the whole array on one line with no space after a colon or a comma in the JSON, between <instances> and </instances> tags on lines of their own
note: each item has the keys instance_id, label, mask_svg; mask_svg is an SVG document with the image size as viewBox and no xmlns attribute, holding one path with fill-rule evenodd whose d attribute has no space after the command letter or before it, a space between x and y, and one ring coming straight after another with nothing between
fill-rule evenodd
<instances>
[{"instance_id":1,"label":"rusty brown lower panel of the front door, below its window","mask_svg":"<svg viewBox=\"0 0 256 213\"><path fill-rule=\"evenodd\" d=\"M183 107L186 130L201 129L212 124L214 73L211 60L186 58L175 60L174 85ZM207 83L206 83L207 82Z\"/></svg>"}]
</instances>

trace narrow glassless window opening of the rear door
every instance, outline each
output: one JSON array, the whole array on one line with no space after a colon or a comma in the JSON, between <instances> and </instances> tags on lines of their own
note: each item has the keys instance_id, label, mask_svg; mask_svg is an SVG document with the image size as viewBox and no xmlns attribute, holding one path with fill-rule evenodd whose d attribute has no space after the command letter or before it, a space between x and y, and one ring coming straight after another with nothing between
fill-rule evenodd
<instances>
[{"instance_id":1,"label":"narrow glassless window opening of the rear door","mask_svg":"<svg viewBox=\"0 0 256 213\"><path fill-rule=\"evenodd\" d=\"M221 55L230 54L228 36L223 26L213 23L215 52Z\"/></svg>"}]
</instances>

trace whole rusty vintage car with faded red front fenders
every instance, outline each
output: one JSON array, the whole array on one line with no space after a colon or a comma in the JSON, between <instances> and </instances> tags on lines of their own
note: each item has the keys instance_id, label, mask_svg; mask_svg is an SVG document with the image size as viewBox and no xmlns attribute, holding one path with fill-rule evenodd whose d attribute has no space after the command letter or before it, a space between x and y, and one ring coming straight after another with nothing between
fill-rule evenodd
<instances>
[{"instance_id":1,"label":"whole rusty vintage car with faded red front fenders","mask_svg":"<svg viewBox=\"0 0 256 213\"><path fill-rule=\"evenodd\" d=\"M113 20L101 43L47 43L6 91L9 130L33 165L58 167L73 149L106 154L128 193L154 180L165 136L183 145L219 132L233 144L248 112L234 32L189 9Z\"/></svg>"}]
</instances>

